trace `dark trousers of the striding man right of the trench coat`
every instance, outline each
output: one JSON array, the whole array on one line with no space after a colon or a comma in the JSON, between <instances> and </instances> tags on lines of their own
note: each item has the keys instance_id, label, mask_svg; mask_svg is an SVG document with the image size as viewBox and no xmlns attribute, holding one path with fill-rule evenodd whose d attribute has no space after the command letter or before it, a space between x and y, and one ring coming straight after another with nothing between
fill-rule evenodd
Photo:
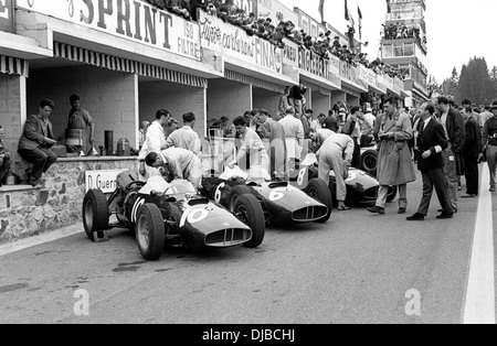
<instances>
[{"instance_id":1,"label":"dark trousers of the striding man right of the trench coat","mask_svg":"<svg viewBox=\"0 0 497 346\"><path fill-rule=\"evenodd\" d=\"M423 174L423 197L421 198L417 213L426 216L430 210L430 202L432 201L433 188L436 191L438 202L442 209L446 214L453 214L451 201L448 199L447 182L443 169L421 172Z\"/></svg>"}]
</instances>

